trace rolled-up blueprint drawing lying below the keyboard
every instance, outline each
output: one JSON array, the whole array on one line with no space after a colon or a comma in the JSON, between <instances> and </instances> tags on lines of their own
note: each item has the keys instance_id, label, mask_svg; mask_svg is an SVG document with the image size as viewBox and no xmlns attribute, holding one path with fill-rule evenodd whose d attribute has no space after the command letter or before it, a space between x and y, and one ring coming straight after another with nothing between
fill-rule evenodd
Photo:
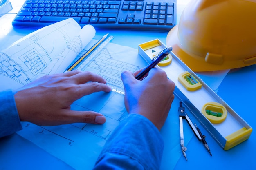
<instances>
[{"instance_id":1,"label":"rolled-up blueprint drawing lying below the keyboard","mask_svg":"<svg viewBox=\"0 0 256 170\"><path fill-rule=\"evenodd\" d=\"M39 29L0 51L0 89L20 88L42 75L61 73L92 40L95 29L67 19Z\"/></svg>"}]
</instances>

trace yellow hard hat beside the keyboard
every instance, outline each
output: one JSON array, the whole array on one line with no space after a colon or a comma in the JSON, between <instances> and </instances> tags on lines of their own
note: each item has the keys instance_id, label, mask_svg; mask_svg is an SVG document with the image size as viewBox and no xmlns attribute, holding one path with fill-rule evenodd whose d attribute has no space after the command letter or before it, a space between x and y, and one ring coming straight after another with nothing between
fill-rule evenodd
<instances>
[{"instance_id":1,"label":"yellow hard hat beside the keyboard","mask_svg":"<svg viewBox=\"0 0 256 170\"><path fill-rule=\"evenodd\" d=\"M191 0L166 46L193 71L256 64L256 0Z\"/></svg>"}]
</instances>

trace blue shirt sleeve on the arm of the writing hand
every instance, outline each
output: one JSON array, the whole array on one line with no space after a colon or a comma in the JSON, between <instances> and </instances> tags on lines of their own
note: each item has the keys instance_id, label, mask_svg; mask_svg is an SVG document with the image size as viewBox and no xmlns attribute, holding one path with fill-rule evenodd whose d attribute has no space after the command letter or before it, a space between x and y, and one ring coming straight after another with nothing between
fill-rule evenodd
<instances>
[{"instance_id":1,"label":"blue shirt sleeve on the arm of the writing hand","mask_svg":"<svg viewBox=\"0 0 256 170\"><path fill-rule=\"evenodd\" d=\"M94 170L157 170L163 149L155 125L142 115L130 114L106 142Z\"/></svg>"}]
</instances>

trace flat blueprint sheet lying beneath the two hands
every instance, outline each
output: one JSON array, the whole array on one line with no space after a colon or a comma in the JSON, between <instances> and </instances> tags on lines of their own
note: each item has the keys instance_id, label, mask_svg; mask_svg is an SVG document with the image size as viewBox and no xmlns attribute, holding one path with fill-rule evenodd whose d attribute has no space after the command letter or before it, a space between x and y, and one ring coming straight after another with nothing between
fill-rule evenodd
<instances>
[{"instance_id":1,"label":"flat blueprint sheet lying beneath the two hands","mask_svg":"<svg viewBox=\"0 0 256 170\"><path fill-rule=\"evenodd\" d=\"M89 49L89 46L85 49ZM84 51L81 55L83 53ZM123 89L121 72L134 72L146 65L137 49L108 43L106 48L83 66L83 71L97 73L103 76L112 88ZM17 133L76 170L92 169L113 130L128 115L124 106L124 95L114 91L93 93L75 101L71 109L99 112L106 117L106 123L37 126L23 122L23 130Z\"/></svg>"}]
</instances>

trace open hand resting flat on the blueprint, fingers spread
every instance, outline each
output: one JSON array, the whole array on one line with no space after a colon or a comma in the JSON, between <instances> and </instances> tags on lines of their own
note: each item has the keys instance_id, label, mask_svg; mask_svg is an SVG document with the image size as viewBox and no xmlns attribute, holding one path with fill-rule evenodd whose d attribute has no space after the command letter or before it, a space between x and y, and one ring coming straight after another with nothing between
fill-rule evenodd
<instances>
[{"instance_id":1,"label":"open hand resting flat on the blueprint, fingers spread","mask_svg":"<svg viewBox=\"0 0 256 170\"><path fill-rule=\"evenodd\" d=\"M41 77L18 89L14 98L20 121L42 126L75 122L103 124L106 118L100 113L70 110L75 100L99 91L111 91L105 79L75 70Z\"/></svg>"}]
</instances>

